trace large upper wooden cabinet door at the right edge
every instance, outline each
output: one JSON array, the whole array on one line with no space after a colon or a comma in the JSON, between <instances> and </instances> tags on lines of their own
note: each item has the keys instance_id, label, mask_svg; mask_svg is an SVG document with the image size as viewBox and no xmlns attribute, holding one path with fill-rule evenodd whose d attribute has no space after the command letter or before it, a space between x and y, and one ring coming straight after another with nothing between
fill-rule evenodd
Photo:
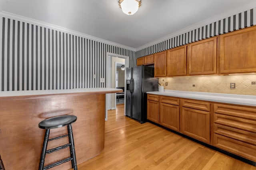
<instances>
[{"instance_id":1,"label":"large upper wooden cabinet door at the right edge","mask_svg":"<svg viewBox=\"0 0 256 170\"><path fill-rule=\"evenodd\" d=\"M256 71L256 27L220 35L220 73Z\"/></svg>"}]
</instances>

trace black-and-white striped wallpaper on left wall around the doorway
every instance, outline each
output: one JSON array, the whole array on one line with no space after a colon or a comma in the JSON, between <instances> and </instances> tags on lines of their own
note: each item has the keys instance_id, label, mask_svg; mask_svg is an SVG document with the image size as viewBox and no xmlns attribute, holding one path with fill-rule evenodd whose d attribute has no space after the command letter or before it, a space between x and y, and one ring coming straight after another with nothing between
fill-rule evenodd
<instances>
[{"instance_id":1,"label":"black-and-white striped wallpaper on left wall around the doorway","mask_svg":"<svg viewBox=\"0 0 256 170\"><path fill-rule=\"evenodd\" d=\"M0 51L1 91L106 87L107 52L136 62L129 49L4 17Z\"/></svg>"}]
</instances>

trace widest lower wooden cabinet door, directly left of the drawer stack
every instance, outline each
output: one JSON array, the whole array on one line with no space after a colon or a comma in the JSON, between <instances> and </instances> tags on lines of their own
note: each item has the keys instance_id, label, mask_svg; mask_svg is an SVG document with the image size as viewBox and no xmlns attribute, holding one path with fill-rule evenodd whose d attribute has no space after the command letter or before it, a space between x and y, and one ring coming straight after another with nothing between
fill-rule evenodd
<instances>
[{"instance_id":1,"label":"widest lower wooden cabinet door, directly left of the drawer stack","mask_svg":"<svg viewBox=\"0 0 256 170\"><path fill-rule=\"evenodd\" d=\"M180 132L210 144L210 112L182 107Z\"/></svg>"}]
</instances>

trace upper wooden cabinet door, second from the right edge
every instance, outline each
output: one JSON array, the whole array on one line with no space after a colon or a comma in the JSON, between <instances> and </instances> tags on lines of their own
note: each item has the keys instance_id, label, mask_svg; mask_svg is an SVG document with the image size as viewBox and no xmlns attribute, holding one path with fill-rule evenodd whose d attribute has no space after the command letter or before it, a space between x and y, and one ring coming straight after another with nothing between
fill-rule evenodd
<instances>
[{"instance_id":1,"label":"upper wooden cabinet door, second from the right edge","mask_svg":"<svg viewBox=\"0 0 256 170\"><path fill-rule=\"evenodd\" d=\"M188 75L216 74L217 37L188 45Z\"/></svg>"}]
</instances>

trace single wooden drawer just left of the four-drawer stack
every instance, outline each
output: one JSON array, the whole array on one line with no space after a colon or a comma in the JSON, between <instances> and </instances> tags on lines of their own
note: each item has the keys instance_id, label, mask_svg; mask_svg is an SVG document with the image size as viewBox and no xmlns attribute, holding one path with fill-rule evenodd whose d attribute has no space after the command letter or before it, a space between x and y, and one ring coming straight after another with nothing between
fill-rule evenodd
<instances>
[{"instance_id":1,"label":"single wooden drawer just left of the four-drawer stack","mask_svg":"<svg viewBox=\"0 0 256 170\"><path fill-rule=\"evenodd\" d=\"M210 102L182 99L181 105L182 107L210 111Z\"/></svg>"}]
</instances>

